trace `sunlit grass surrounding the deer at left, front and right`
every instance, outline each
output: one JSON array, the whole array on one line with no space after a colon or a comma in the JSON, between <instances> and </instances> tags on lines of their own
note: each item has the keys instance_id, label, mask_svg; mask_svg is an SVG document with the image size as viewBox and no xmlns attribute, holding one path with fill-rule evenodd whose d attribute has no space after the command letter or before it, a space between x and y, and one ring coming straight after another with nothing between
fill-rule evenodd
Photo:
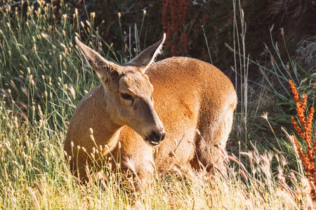
<instances>
[{"instance_id":1,"label":"sunlit grass surrounding the deer at left, front and right","mask_svg":"<svg viewBox=\"0 0 316 210\"><path fill-rule=\"evenodd\" d=\"M294 129L290 121L285 123L287 137L279 123L284 125L291 113L296 114L291 90L283 96L265 76L265 83L258 84L260 91L251 90L246 85L248 59L243 50L235 54L241 63L235 64L235 72L240 72L236 78L244 86L237 87L242 97L230 137L227 172L216 171L213 177L203 171L193 177L157 172L143 192L136 192L131 180L122 183L116 174L107 181L78 184L65 162L63 142L75 107L99 81L73 45L74 36L84 37L86 44L114 62L124 62L126 57L100 39L98 26L93 25L95 14L90 22L74 24L79 18L71 6L62 4L58 20L52 11L53 6L44 1L0 8L1 209L312 208L311 186L291 141ZM294 62L290 65L298 69ZM282 84L291 77L278 69L287 69L282 59L272 59L272 66L275 69L261 68L275 72ZM315 78L295 72L299 90L315 95L315 87L304 85L315 83ZM272 118L263 115L280 100L290 113L277 110Z\"/></svg>"}]
</instances>

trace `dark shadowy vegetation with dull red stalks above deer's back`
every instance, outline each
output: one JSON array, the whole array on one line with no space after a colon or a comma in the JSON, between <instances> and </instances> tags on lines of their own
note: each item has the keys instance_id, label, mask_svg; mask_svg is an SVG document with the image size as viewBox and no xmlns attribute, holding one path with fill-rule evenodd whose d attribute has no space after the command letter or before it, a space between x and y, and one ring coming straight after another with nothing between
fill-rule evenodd
<instances>
[{"instance_id":1,"label":"dark shadowy vegetation with dull red stalks above deer's back","mask_svg":"<svg viewBox=\"0 0 316 210\"><path fill-rule=\"evenodd\" d=\"M211 62L223 71L230 70L232 53L225 43L232 46L234 10L232 1L216 0L162 0L162 1L70 1L79 9L81 20L89 18L87 13L96 12L96 26L107 43L121 48L121 29L125 38L134 36L134 27L143 25L140 35L140 49L159 40L167 33L164 55L189 56ZM315 52L312 62L300 50L316 41L316 3L311 0L243 0L240 2L246 21L246 52L252 59L265 62L265 45L271 45L270 28L274 25L272 36L282 48L280 29L284 28L290 55L301 61L307 70L315 68ZM239 18L237 2L237 19ZM143 21L143 10L146 15ZM121 28L118 13L121 13ZM105 20L103 24L101 22ZM238 24L239 21L237 21ZM204 27L204 32L202 29ZM131 28L131 33L129 32ZM206 41L204 36L208 41ZM306 50L306 49L305 49ZM303 54L303 55L302 55ZM250 68L256 71L258 68Z\"/></svg>"}]
</instances>

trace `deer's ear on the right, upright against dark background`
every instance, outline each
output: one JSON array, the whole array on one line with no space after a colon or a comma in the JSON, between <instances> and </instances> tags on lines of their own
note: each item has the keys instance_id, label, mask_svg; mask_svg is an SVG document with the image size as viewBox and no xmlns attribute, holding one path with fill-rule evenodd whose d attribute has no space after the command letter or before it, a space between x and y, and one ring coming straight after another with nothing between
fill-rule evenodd
<instances>
[{"instance_id":1,"label":"deer's ear on the right, upright against dark background","mask_svg":"<svg viewBox=\"0 0 316 210\"><path fill-rule=\"evenodd\" d=\"M162 39L160 39L157 43L154 43L143 52L140 52L138 56L124 64L124 66L138 66L143 71L143 73L145 73L150 64L154 62L154 58L162 53L162 45L165 39L166 34L164 34Z\"/></svg>"}]
</instances>

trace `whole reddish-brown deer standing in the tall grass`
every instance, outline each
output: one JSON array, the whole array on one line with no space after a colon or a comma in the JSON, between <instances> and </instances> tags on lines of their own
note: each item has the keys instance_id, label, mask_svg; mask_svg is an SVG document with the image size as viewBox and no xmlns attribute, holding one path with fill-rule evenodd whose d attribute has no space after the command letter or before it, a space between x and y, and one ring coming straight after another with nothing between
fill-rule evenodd
<instances>
[{"instance_id":1,"label":"whole reddish-brown deer standing in the tall grass","mask_svg":"<svg viewBox=\"0 0 316 210\"><path fill-rule=\"evenodd\" d=\"M223 167L237 105L235 88L222 71L199 59L154 62L165 38L124 65L75 38L101 82L79 102L65 139L65 158L80 180L88 180L92 167L102 170L102 163L92 160L96 150L99 161L120 155L121 171L133 171L140 183L156 170L203 167L212 173Z\"/></svg>"}]
</instances>

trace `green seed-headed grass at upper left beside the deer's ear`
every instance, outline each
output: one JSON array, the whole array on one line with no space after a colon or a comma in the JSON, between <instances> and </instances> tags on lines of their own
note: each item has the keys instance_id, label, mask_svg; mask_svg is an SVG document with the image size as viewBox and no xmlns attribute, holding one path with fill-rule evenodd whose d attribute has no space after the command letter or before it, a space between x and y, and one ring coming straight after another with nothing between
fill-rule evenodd
<instances>
[{"instance_id":1,"label":"green seed-headed grass at upper left beside the deer's ear","mask_svg":"<svg viewBox=\"0 0 316 210\"><path fill-rule=\"evenodd\" d=\"M25 113L29 120L45 118L53 130L64 132L63 119L98 80L74 48L70 7L64 5L62 18L55 20L52 6L42 1L37 9L27 6L27 13L1 10L0 83L6 109ZM83 31L88 41L96 42L95 31L88 26ZM32 113L37 107L42 116Z\"/></svg>"}]
</instances>

